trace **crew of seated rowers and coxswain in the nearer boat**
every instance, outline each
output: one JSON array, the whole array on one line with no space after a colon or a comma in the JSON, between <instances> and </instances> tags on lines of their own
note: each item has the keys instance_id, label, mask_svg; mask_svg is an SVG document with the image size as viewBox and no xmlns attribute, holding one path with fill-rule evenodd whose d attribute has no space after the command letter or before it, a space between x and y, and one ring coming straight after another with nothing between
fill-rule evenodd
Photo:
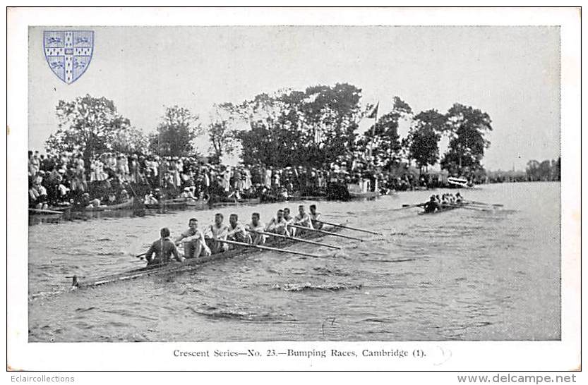
<instances>
[{"instance_id":1,"label":"crew of seated rowers and coxswain in the nearer boat","mask_svg":"<svg viewBox=\"0 0 588 385\"><path fill-rule=\"evenodd\" d=\"M290 209L277 210L276 215L268 224L260 221L258 212L251 214L251 222L241 224L237 214L229 216L229 224L224 224L224 216L215 214L215 223L203 230L198 228L198 219L191 218L188 221L188 229L172 240L169 228L162 228L161 238L152 243L145 259L149 263L166 263L175 259L184 262L186 258L207 257L217 252L224 252L234 247L234 243L223 241L246 243L249 245L263 245L268 235L263 233L275 233L280 236L295 237L296 231L304 228L320 230L323 224L319 221L320 212L316 211L316 204L311 204L310 212L306 212L304 204L299 205L298 214L292 216ZM184 255L178 251L177 246L184 244Z\"/></svg>"}]
</instances>

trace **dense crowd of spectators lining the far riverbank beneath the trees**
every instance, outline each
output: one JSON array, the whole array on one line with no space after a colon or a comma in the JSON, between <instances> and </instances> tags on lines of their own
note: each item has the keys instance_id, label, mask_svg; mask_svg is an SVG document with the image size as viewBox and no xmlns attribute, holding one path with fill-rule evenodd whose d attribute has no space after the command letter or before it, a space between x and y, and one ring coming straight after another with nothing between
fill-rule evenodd
<instances>
[{"instance_id":1,"label":"dense crowd of spectators lining the far riverbank beneath the trees","mask_svg":"<svg viewBox=\"0 0 588 385\"><path fill-rule=\"evenodd\" d=\"M195 200L281 200L324 196L329 183L371 181L376 188L412 190L418 178L373 171L361 157L340 157L324 169L306 166L210 164L198 157L103 153L85 160L80 152L28 152L29 204L46 209L77 204L95 207L127 202L154 203L176 197Z\"/></svg>"}]
</instances>

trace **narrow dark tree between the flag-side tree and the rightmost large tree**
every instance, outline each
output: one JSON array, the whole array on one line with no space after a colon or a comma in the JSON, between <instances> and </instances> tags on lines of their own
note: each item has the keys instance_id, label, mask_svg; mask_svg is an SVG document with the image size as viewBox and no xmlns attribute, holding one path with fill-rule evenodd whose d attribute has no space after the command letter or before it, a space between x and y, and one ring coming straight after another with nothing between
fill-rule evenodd
<instances>
[{"instance_id":1,"label":"narrow dark tree between the flag-side tree and the rightmost large tree","mask_svg":"<svg viewBox=\"0 0 588 385\"><path fill-rule=\"evenodd\" d=\"M433 166L439 159L439 140L445 128L445 115L435 109L422 111L414 116L405 142L410 159L416 161L419 172L423 167Z\"/></svg>"}]
</instances>

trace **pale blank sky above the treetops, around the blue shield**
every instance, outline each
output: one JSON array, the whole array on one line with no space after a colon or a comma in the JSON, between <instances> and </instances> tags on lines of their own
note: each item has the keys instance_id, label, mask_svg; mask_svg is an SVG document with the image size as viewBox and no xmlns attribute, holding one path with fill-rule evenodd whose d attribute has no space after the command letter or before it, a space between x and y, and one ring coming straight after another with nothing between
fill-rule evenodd
<instances>
[{"instance_id":1,"label":"pale blank sky above the treetops, around the blue shield","mask_svg":"<svg viewBox=\"0 0 588 385\"><path fill-rule=\"evenodd\" d=\"M76 82L50 70L43 30L95 31L90 66ZM29 148L41 151L57 129L60 99L107 97L151 133L166 106L206 124L215 103L347 82L362 90L361 104L380 102L380 115L395 96L415 113L456 102L487 112L486 169L560 156L559 27L30 27L28 67Z\"/></svg>"}]
</instances>

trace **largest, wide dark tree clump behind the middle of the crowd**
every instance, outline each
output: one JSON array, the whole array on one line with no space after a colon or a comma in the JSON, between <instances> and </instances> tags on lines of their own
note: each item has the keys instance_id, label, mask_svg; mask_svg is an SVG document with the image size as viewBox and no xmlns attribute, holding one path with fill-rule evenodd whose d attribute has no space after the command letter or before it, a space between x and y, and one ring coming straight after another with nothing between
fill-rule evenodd
<instances>
[{"instance_id":1,"label":"largest, wide dark tree clump behind the middle of the crowd","mask_svg":"<svg viewBox=\"0 0 588 385\"><path fill-rule=\"evenodd\" d=\"M246 163L323 166L354 147L361 90L317 85L304 92L258 94L236 110L249 130L238 135Z\"/></svg>"}]
</instances>

